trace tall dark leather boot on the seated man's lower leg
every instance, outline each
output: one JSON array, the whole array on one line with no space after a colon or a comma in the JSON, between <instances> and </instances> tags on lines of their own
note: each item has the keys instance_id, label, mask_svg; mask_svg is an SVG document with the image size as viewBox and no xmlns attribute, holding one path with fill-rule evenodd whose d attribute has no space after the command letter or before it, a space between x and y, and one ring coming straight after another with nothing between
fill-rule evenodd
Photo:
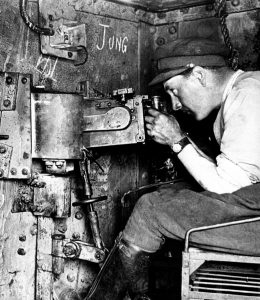
<instances>
[{"instance_id":1,"label":"tall dark leather boot on the seated man's lower leg","mask_svg":"<svg viewBox=\"0 0 260 300\"><path fill-rule=\"evenodd\" d=\"M148 268L148 254L119 237L85 300L123 300L127 292L132 300L150 300Z\"/></svg>"}]
</instances>

